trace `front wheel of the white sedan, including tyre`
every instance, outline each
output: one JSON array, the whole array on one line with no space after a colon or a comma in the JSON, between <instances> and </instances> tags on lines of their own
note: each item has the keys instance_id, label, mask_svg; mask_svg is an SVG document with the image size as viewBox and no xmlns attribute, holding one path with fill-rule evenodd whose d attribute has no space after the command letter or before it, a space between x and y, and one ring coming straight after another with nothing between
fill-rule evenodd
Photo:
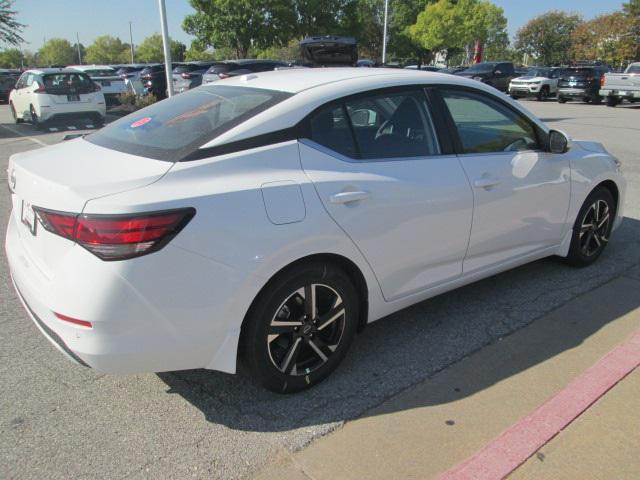
<instances>
[{"instance_id":1,"label":"front wheel of the white sedan, including tyre","mask_svg":"<svg viewBox=\"0 0 640 480\"><path fill-rule=\"evenodd\" d=\"M592 192L578 213L567 260L585 267L592 264L609 243L615 218L615 202L606 188Z\"/></svg>"}]
</instances>

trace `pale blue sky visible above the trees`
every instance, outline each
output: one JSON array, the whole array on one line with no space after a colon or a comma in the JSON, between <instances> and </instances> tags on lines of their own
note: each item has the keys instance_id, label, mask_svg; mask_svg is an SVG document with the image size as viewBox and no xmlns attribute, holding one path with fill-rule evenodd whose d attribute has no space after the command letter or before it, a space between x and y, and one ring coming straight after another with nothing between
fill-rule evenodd
<instances>
[{"instance_id":1,"label":"pale blue sky visible above the trees","mask_svg":"<svg viewBox=\"0 0 640 480\"><path fill-rule=\"evenodd\" d=\"M410 0L409 0L410 1ZM536 15L548 10L580 13L589 20L621 8L623 0L493 0L502 7L508 20L509 36ZM166 0L169 35L187 47L192 38L182 30L182 19L193 10L188 0ZM129 42L132 22L133 43L160 32L157 0L15 0L17 20L27 25L23 49L35 51L47 38L66 38L90 45L99 35L113 35ZM331 32L327 32L331 33Z\"/></svg>"}]
</instances>

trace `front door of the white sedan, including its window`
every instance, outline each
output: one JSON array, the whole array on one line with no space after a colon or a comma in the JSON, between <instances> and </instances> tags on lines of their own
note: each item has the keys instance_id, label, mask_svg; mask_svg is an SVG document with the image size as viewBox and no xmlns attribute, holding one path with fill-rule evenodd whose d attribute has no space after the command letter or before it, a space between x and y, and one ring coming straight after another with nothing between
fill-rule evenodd
<instances>
[{"instance_id":1,"label":"front door of the white sedan, including its window","mask_svg":"<svg viewBox=\"0 0 640 480\"><path fill-rule=\"evenodd\" d=\"M496 96L440 92L474 194L465 273L558 246L569 208L568 156L546 152L544 132Z\"/></svg>"}]
</instances>

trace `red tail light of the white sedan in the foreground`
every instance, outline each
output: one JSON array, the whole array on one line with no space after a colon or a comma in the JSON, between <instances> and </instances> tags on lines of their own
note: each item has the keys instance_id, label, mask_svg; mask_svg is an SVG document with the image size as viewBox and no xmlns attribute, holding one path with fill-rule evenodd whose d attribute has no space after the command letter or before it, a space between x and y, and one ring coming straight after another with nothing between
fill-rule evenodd
<instances>
[{"instance_id":1,"label":"red tail light of the white sedan in the foreground","mask_svg":"<svg viewBox=\"0 0 640 480\"><path fill-rule=\"evenodd\" d=\"M126 215L77 215L34 209L45 230L102 260L124 260L164 247L193 218L194 208Z\"/></svg>"}]
</instances>

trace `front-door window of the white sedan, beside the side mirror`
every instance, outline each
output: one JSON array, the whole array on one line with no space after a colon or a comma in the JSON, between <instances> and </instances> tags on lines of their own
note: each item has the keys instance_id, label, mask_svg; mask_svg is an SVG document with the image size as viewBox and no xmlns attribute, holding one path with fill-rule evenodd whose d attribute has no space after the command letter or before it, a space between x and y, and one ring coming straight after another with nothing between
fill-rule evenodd
<instances>
[{"instance_id":1,"label":"front-door window of the white sedan, beside the side mirror","mask_svg":"<svg viewBox=\"0 0 640 480\"><path fill-rule=\"evenodd\" d=\"M443 90L464 153L513 152L539 148L533 125L486 95Z\"/></svg>"}]
</instances>

